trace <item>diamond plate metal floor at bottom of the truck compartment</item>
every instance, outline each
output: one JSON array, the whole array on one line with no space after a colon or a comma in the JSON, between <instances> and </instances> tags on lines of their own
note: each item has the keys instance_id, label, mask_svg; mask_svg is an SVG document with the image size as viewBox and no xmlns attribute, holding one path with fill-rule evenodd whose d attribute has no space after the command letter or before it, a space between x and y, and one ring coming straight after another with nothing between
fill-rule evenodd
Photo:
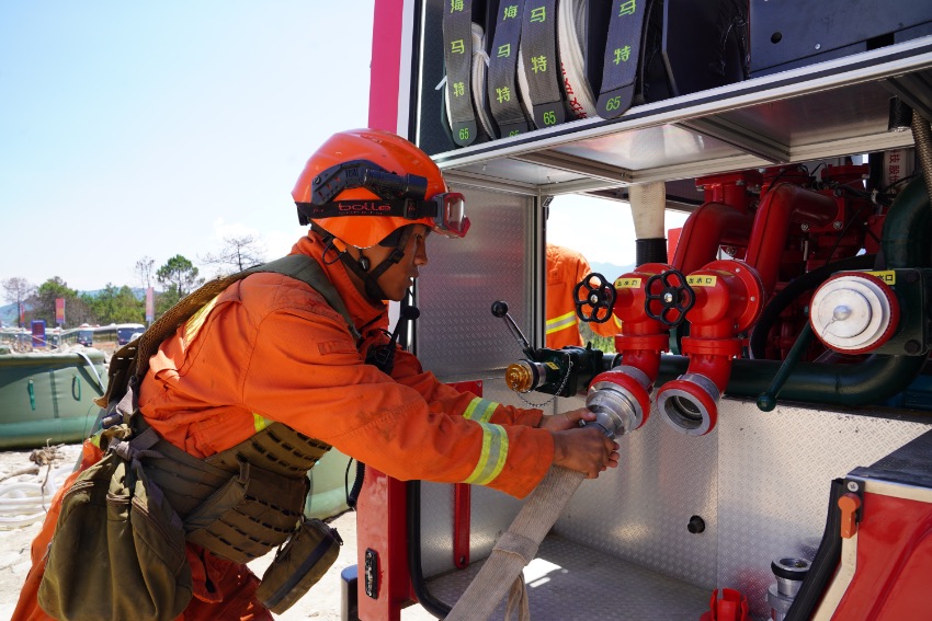
<instances>
[{"instance_id":1,"label":"diamond plate metal floor at bottom of the truck compartment","mask_svg":"<svg viewBox=\"0 0 932 621\"><path fill-rule=\"evenodd\" d=\"M430 593L453 603L481 563L432 578ZM711 593L550 536L524 568L534 621L698 621ZM402 611L405 621L432 619L420 607ZM504 619L502 601L492 620Z\"/></svg>"}]
</instances>

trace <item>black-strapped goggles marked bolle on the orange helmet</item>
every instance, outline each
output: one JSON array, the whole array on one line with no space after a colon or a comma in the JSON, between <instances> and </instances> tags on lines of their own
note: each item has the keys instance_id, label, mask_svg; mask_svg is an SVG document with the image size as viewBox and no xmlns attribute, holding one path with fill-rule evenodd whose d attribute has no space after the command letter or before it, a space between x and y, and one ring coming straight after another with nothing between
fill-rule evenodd
<instances>
[{"instance_id":1,"label":"black-strapped goggles marked bolle on the orange helmet","mask_svg":"<svg viewBox=\"0 0 932 621\"><path fill-rule=\"evenodd\" d=\"M341 216L380 216L421 220L437 233L462 238L469 230L466 200L462 194L445 192L424 199L427 179L386 171L367 160L353 160L331 166L314 179L312 203L298 203L303 225L310 220ZM379 199L333 200L345 189L364 188Z\"/></svg>"}]
</instances>

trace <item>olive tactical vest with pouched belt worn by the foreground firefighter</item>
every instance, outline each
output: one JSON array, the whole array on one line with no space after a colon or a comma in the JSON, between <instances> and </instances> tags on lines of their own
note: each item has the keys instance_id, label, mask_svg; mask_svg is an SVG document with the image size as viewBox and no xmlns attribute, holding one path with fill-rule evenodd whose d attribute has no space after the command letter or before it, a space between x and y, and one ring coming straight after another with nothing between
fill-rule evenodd
<instances>
[{"instance_id":1,"label":"olive tactical vest with pouched belt worn by the foreground firefighter","mask_svg":"<svg viewBox=\"0 0 932 621\"><path fill-rule=\"evenodd\" d=\"M273 423L232 448L198 459L159 437L139 415L137 399L149 357L161 342L227 287L261 272L284 274L312 287L359 338L343 300L317 262L289 255L213 280L182 299L113 355L106 393L98 400L106 407L104 428L128 419L134 430L130 444L143 451L146 473L184 522L187 540L238 563L264 555L294 532L309 487L307 471L330 445Z\"/></svg>"}]
</instances>

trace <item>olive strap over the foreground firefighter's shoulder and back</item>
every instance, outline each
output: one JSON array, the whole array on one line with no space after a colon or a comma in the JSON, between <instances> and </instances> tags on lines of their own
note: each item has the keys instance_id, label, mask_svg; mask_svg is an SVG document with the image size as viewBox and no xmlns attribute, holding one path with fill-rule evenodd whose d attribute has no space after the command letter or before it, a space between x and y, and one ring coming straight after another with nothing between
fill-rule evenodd
<instances>
[{"instance_id":1,"label":"olive strap over the foreground firefighter's shoulder and back","mask_svg":"<svg viewBox=\"0 0 932 621\"><path fill-rule=\"evenodd\" d=\"M350 312L346 310L343 299L327 278L320 265L307 255L291 254L230 276L211 280L182 298L156 320L139 338L124 345L113 354L107 371L110 381L106 392L94 402L101 407L106 407L113 400L121 399L126 392L129 378L135 377L137 382L143 381L143 377L149 370L149 357L156 353L162 341L174 334L191 315L219 296L227 287L247 276L262 272L283 274L314 288L333 310L343 315L350 334L356 340L360 338L360 333L353 325L353 320L350 318Z\"/></svg>"}]
</instances>

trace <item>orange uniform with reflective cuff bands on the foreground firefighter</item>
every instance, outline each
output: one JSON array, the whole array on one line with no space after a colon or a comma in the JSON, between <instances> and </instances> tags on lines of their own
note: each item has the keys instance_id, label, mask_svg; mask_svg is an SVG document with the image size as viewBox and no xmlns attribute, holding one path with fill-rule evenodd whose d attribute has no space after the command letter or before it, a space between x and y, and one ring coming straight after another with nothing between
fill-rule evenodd
<instances>
[{"instance_id":1,"label":"orange uniform with reflective cuff bands on the foreground firefighter","mask_svg":"<svg viewBox=\"0 0 932 621\"><path fill-rule=\"evenodd\" d=\"M149 425L189 453L208 457L279 421L397 479L477 483L519 497L531 492L554 455L549 432L535 428L542 412L454 390L402 350L391 377L364 364L368 346L387 342L387 307L368 302L341 263L321 260L322 251L308 233L292 253L318 260L363 343L306 284L272 273L249 276L150 358L139 394ZM47 619L35 589L53 530L46 524L33 542L33 570L14 619ZM243 619L271 618L250 603L257 579L247 567L193 544L187 559L195 597L182 619L215 619L220 602Z\"/></svg>"}]
</instances>

